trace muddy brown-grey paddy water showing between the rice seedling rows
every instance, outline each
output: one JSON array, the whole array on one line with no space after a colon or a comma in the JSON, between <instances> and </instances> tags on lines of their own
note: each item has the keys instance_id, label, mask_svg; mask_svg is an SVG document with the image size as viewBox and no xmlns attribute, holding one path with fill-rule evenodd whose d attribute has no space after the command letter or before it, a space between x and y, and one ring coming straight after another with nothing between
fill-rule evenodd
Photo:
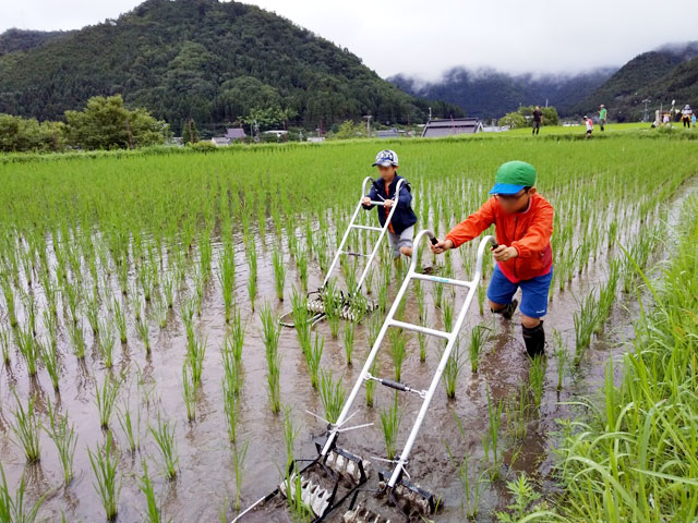
<instances>
[{"instance_id":1,"label":"muddy brown-grey paddy water showing between the rice seedling rows","mask_svg":"<svg viewBox=\"0 0 698 523\"><path fill-rule=\"evenodd\" d=\"M418 178L418 177L414 177ZM688 177L684 177L685 179ZM678 184L681 181L676 184ZM354 184L356 185L356 184ZM465 205L474 205L482 197L483 184L467 184L458 186L455 196L449 200L464 195ZM678 194L695 188L679 188ZM431 203L437 198L442 190L440 182L434 182L429 187L420 188L416 193L416 209L421 212L423 224L435 223L441 234L445 234L456 223L450 215L446 216L444 208L431 208ZM553 197L550 199L555 205L555 195L561 195L562 188L551 187ZM544 192L544 191L543 191ZM419 198L423 197L423 202ZM310 257L308 289L318 288L324 278L324 271L317 262L316 251L324 247L327 255L334 255L336 232L346 227L348 209L353 205L353 196L347 196L347 207L339 214L328 214L327 228L325 230L313 223L311 230L315 238L308 238L306 229L299 227L293 229L296 242L306 245L315 245L315 254ZM559 208L570 210L571 215L581 214L578 205L581 199L574 197L561 198ZM647 200L646 200L647 202ZM671 229L665 220L671 220L671 209L674 204L665 205L663 202L650 203L640 209L641 202L619 202L613 210L593 209L593 215L588 229L582 229L579 223L573 223L573 234L569 243L562 248L576 253L585 252L581 247L589 242L587 259L575 258L574 262L561 262L574 264L574 269L562 267L570 275L557 277L553 283L550 299L550 311L545 317L547 336L547 361L542 377L542 396L540 405L535 404L534 388L530 384L531 361L527 357L520 332L518 314L512 321L500 317L493 317L485 311L479 312L479 303L476 301L467 317L467 325L461 331L459 346L462 353L462 370L458 377L456 397L448 399L445 388L440 386L429 411L426 422L422 426L417 443L411 452L410 463L407 467L413 482L441 496L441 510L435 514L435 521L464 521L465 514L473 512L477 521L496 521L495 512L504 510L512 502L512 496L506 488L506 482L515 479L520 473L526 473L537 488L545 494L555 490L552 476L555 463L552 449L558 440L556 433L561 429L558 418L574 418L583 414L583 409L571 403L580 398L594 398L600 393L604 380L604 365L614 355L626 351L623 342L633 337L633 320L638 314L637 295L635 284L630 292L624 292L618 284L615 292L615 303L609 318L603 323L603 328L593 338L588 350L580 353L579 364L575 365L576 354L576 328L575 315L579 314L580 304L589 296L598 292L605 283L609 273L609 260L622 259L623 253L619 245L628 246L638 241L642 234L657 234L660 231ZM461 204L462 205L462 204ZM444 207L446 204L444 204ZM437 206L438 207L438 206ZM622 223L611 223L613 216L621 216ZM465 217L465 214L464 214ZM365 223L371 223L374 215L364 217ZM565 218L561 223L566 227ZM594 221L595 220L595 221ZM313 221L311 218L310 221ZM663 226L662 226L662 222ZM652 229L662 226L662 229ZM280 471L285 469L287 459L284 440L285 415L273 413L269 409L269 392L267 387L267 355L260 311L268 303L276 315L290 308L290 296L293 288L301 288L299 267L293 256L298 251L289 245L289 235L285 230L280 234L277 221L273 217L266 218L264 233L256 227L243 234L237 230L233 233L220 232L218 223L214 234L210 235L212 276L205 280L203 295L200 302L200 312L193 315L193 325L197 335L205 340L205 355L203 357L203 373L201 387L196 391L195 419L188 421L186 404L182 393L182 367L188 357L188 333L182 318L185 303L194 294L196 287L196 262L188 267L185 273L176 289L172 308L166 312L166 321L160 327L156 311L157 301L139 301L143 305L143 314L147 318L148 340L151 352L145 350L145 343L140 332L139 320L134 316L133 294L139 295L142 285L137 265L143 262L131 260L128 273L128 294L123 294L123 285L117 277L116 265L103 264L99 258L97 268L97 288L101 293L99 318L103 321L111 321L112 312L108 306L111 297L116 297L123 304L127 311L127 338L125 343L117 341L113 351L113 366L106 368L104 354L99 346L98 335L94 335L87 319L82 320L84 328L85 356L75 357L74 339L70 332L70 303L69 297L62 295L57 300L57 316L60 318L56 330L57 352L60 358L60 387L56 392L51 388L51 380L47 369L39 364L36 376L29 377L23 354L13 335L9 336L10 363L4 365L0 373L0 455L2 467L11 486L20 484L24 474L26 484L26 497L31 501L45 496L39 516L48 521L103 521L103 502L95 491L95 477L91 465L87 449L95 452L105 442L108 431L116 441L112 453L117 457L119 499L117 521L132 522L143 521L146 512L144 495L141 490L143 476L143 460L148 463L149 475L154 484L154 491L161 509L164 520L193 522L193 521L229 521L234 518L236 479L241 478L240 495L242 508L257 500L274 489L281 477ZM598 240L589 240L580 234L585 230L590 234L598 234ZM614 231L615 238L611 241L610 232ZM226 236L226 238L224 238ZM99 231L91 235L95 252L99 253L99 245L106 240ZM255 299L250 299L248 281L250 278L249 245L250 239L256 244L256 271L257 288ZM323 240L324 239L324 240ZM64 240L64 239L62 239ZM224 387L225 369L221 354L226 339L230 336L230 326L226 323L225 297L219 279L219 262L222 257L226 240L233 247L234 260L234 304L239 311L242 323L245 326L244 343L242 349L242 368L244 381L238 402L238 428L237 442L233 446L228 436L228 422L225 413ZM477 241L476 241L477 242ZM81 244L75 240L75 244ZM19 250L24 248L23 242L17 242ZM52 251L55 245L50 235L46 240L46 260L52 275L56 272L57 254ZM154 245L154 244L153 244ZM159 272L166 275L176 267L169 259L171 251L167 245L151 246L155 254L155 263L159 265ZM280 248L286 266L284 282L284 296L281 302L276 296L274 245ZM358 241L358 246L362 245ZM574 247L573 247L574 246ZM387 246L384 246L384 251ZM554 243L555 247L555 243ZM85 247L80 247L84 250ZM652 244L653 255L649 256L646 266L666 256L661 247L661 242ZM147 253L148 251L145 251ZM148 254L145 254L147 258ZM193 260L201 257L197 243L193 244L188 256ZM60 255L59 255L60 257ZM135 257L135 256L134 256ZM376 264L375 275L370 285L368 297L377 300L378 289L389 276L390 283L387 292L387 305L392 303L401 280L397 270L392 268L386 253ZM450 264L453 276L467 278L472 273L474 264L474 246L452 253ZM432 254L424 252L420 260L422 266L435 264L441 270L445 267L443 257L433 258ZM84 270L85 297L89 300L88 289L92 285L88 259L83 258L75 267ZM557 268L556 268L557 269ZM484 279L481 282L484 288L489 282L492 270L492 262L485 264ZM35 269L35 279L29 284L26 272L17 270L16 280L13 282L17 295L15 307L16 320L20 326L26 326L31 312L27 303L39 304L44 308L49 300L38 280L39 269ZM564 289L561 290L561 280L564 280ZM623 280L623 277L621 277ZM161 287L160 280L159 285ZM342 284L340 278L338 284ZM93 282L94 283L94 282ZM110 291L107 291L107 288ZM424 306L426 324L432 328L443 328L443 306L436 306L438 299L435 289L423 283ZM21 300L20 290L34 300ZM449 291L444 291L445 299L449 299ZM456 293L453 296L454 308L457 315L462 302L462 295ZM10 321L7 303L3 302L3 328L10 332ZM140 305L139 305L140 306ZM409 321L419 321L420 304L413 290L408 294L405 307L405 318ZM346 323L341 323L339 337L333 338L327 321L320 323L314 332L324 339L324 351L321 366L330 369L335 377L341 377L347 390L351 388L359 376L361 366L370 350L370 325L372 321L381 323L385 313L377 311L356 326L353 364L348 365L345 346L344 331ZM40 315L38 316L40 318ZM480 352L479 368L477 373L471 370L467 357L470 345L470 330L477 325L485 329L485 342ZM50 338L43 320L36 323L36 338L45 340L48 344ZM378 354L378 372L381 376L393 377L393 360L389 355L389 341L384 342L385 349ZM443 342L430 339L426 345L426 357L420 361L417 336L411 336L407 343L407 356L402 364L401 381L414 388L426 388L438 363L440 351ZM567 357L558 357L566 352ZM557 354L556 354L557 351ZM305 357L299 346L297 332L291 328L284 328L279 337L278 353L281 361L280 372L280 399L281 404L290 409L293 424L298 430L296 436L294 455L298 458L314 458L316 451L314 441L322 441L325 427L323 423L306 413L315 413L324 416L323 404L318 392L311 387L311 379L306 367ZM558 366L564 369L558 374ZM115 410L111 415L109 428L100 427L99 409L96 404L96 391L104 387L106 376L112 376L120 382ZM557 388L562 375L562 387ZM17 401L25 403L28 398L36 400L36 415L47 424L48 404L58 412L65 413L73 424L77 435L76 451L74 454L74 477L68 485L62 485L63 470L56 454L55 443L48 437L46 430L39 431L40 460L36 463L26 463L24 451L17 445L17 438L13 430L16 426L15 412ZM339 445L347 450L371 461L374 466L387 469L387 464L380 461L385 458L386 449L381 431L381 412L388 409L394 400L392 389L376 387L374 406L366 408L363 391L354 403L358 414L352 418L352 425L374 423L374 426L345 433L339 437ZM497 455L493 455L491 441L490 409L502 405L498 417L498 449ZM420 406L419 399L402 394L399 398L399 412L401 422L397 439L397 449L401 449L411 422ZM123 425L123 414L130 412L135 426L134 434L137 439L137 450L129 450L129 438ZM160 449L156 445L151 428L157 426L158 415L168 419L173 427L176 447L174 479L168 481L164 474L164 464ZM236 474L232 454L240 449L246 449L243 461L243 473ZM488 449L488 450L485 450ZM458 464L462 465L464 457L468 457L468 494L459 477ZM377 459L376 459L377 458ZM12 487L11 487L12 489ZM340 521L341 511L338 511L329 521ZM292 521L289 514L280 515L278 521Z\"/></svg>"}]
</instances>

